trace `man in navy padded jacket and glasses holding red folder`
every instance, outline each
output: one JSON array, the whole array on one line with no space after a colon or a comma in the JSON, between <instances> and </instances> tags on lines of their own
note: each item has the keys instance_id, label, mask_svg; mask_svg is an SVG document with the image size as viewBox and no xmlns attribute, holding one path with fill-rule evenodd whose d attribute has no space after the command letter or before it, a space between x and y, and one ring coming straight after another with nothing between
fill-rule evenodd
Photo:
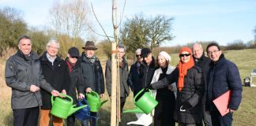
<instances>
[{"instance_id":1,"label":"man in navy padded jacket and glasses holding red folder","mask_svg":"<svg viewBox=\"0 0 256 126\"><path fill-rule=\"evenodd\" d=\"M211 60L207 76L206 111L211 114L213 126L232 126L232 114L238 109L242 100L239 70L232 61L224 57L217 43L210 43L206 50ZM222 117L213 100L228 90L232 91L227 109L229 113Z\"/></svg>"}]
</instances>

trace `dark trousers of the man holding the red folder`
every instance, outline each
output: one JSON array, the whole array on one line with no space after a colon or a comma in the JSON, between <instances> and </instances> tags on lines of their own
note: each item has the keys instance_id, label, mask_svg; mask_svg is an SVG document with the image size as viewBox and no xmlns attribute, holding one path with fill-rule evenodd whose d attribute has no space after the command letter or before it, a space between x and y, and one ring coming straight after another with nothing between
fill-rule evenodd
<instances>
[{"instance_id":1,"label":"dark trousers of the man holding the red folder","mask_svg":"<svg viewBox=\"0 0 256 126\"><path fill-rule=\"evenodd\" d=\"M213 126L232 126L232 113L227 113L224 117L221 117L219 111L212 111L210 113Z\"/></svg>"}]
</instances>

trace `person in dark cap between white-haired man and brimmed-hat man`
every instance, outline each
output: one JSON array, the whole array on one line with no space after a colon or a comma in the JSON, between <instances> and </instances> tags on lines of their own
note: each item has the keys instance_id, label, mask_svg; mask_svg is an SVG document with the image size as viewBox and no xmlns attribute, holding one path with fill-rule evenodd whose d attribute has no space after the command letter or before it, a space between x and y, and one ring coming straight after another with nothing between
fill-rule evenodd
<instances>
[{"instance_id":1,"label":"person in dark cap between white-haired man and brimmed-hat man","mask_svg":"<svg viewBox=\"0 0 256 126\"><path fill-rule=\"evenodd\" d=\"M67 95L70 95L73 98L73 105L77 104L77 94L80 97L85 97L83 95L84 87L82 80L82 72L81 65L78 61L79 50L76 47L71 47L68 50L68 54L66 57L66 65L69 67L70 71L70 89L66 92ZM75 124L75 116L74 114L67 117L67 126L74 126Z\"/></svg>"}]
</instances>

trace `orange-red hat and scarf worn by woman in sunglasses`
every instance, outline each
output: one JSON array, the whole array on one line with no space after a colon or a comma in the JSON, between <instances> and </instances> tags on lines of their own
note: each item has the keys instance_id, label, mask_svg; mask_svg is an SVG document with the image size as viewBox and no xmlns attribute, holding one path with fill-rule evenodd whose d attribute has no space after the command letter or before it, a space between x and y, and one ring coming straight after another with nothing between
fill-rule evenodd
<instances>
[{"instance_id":1,"label":"orange-red hat and scarf worn by woman in sunglasses","mask_svg":"<svg viewBox=\"0 0 256 126\"><path fill-rule=\"evenodd\" d=\"M179 80L178 80L178 86L177 88L179 89L179 91L183 90L184 87L184 77L186 76L187 70L192 68L194 66L194 60L192 57L192 51L189 47L183 47L180 51L179 54L181 54L183 51L189 52L190 53L190 61L183 63L181 60L179 60L179 65L178 65L178 69L179 69ZM181 58L181 57L179 57Z\"/></svg>"}]
</instances>

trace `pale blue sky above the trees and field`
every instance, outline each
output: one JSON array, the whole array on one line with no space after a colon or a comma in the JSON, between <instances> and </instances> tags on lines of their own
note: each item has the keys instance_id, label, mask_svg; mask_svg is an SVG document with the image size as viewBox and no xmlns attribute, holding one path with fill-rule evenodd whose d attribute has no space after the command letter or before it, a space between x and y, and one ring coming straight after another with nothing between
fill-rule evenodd
<instances>
[{"instance_id":1,"label":"pale blue sky above the trees and field","mask_svg":"<svg viewBox=\"0 0 256 126\"><path fill-rule=\"evenodd\" d=\"M23 19L30 27L43 28L49 23L50 9L55 0L0 0L0 7L9 6L23 13ZM65 1L65 0L62 0ZM117 0L119 17L124 0ZM111 24L111 0L88 0L107 31L113 35ZM143 13L145 17L164 15L173 17L170 43L161 46L184 45L196 41L216 41L227 45L235 40L247 43L254 39L256 28L255 0L126 0L123 21ZM104 32L90 17L96 31ZM98 36L99 39L104 39Z\"/></svg>"}]
</instances>

